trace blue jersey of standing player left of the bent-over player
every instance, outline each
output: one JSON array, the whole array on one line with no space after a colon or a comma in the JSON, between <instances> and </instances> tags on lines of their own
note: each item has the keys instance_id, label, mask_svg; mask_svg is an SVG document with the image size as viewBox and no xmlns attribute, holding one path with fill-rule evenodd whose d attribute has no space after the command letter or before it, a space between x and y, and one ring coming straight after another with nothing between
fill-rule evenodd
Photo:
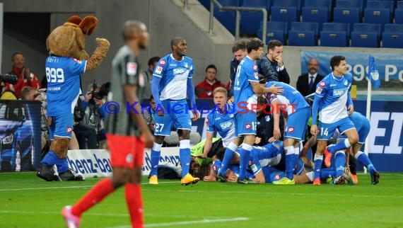
<instances>
[{"instance_id":1,"label":"blue jersey of standing player left of the bent-over player","mask_svg":"<svg viewBox=\"0 0 403 228\"><path fill-rule=\"evenodd\" d=\"M250 81L259 82L257 64L250 57L242 59L238 65L234 81L234 103L237 110L240 102L257 103L257 96ZM250 106L248 106L250 108Z\"/></svg>"}]
</instances>

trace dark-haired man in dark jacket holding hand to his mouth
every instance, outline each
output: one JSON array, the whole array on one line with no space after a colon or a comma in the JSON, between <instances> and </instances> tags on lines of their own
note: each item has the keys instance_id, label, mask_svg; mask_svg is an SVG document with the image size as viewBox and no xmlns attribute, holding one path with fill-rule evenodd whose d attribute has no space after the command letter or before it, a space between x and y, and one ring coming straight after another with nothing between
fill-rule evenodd
<instances>
[{"instance_id":1,"label":"dark-haired man in dark jacket holding hand to his mouth","mask_svg":"<svg viewBox=\"0 0 403 228\"><path fill-rule=\"evenodd\" d=\"M267 53L256 61L259 74L262 74L267 81L281 81L290 84L283 61L283 44L279 40L270 40L267 44Z\"/></svg>"}]
</instances>

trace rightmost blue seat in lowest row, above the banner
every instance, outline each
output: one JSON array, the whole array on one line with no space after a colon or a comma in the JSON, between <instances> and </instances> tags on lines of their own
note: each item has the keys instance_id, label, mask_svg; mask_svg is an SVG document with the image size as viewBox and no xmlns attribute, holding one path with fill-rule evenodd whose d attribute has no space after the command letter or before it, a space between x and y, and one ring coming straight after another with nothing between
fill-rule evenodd
<instances>
[{"instance_id":1,"label":"rightmost blue seat in lowest row, above the banner","mask_svg":"<svg viewBox=\"0 0 403 228\"><path fill-rule=\"evenodd\" d=\"M385 25L385 31L382 33L382 47L403 48L403 25Z\"/></svg>"}]
</instances>

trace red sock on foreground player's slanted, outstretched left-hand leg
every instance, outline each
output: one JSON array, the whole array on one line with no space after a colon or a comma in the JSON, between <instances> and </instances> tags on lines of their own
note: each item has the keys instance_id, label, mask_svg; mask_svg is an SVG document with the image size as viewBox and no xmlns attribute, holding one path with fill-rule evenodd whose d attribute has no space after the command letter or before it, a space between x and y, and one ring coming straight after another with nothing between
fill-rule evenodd
<instances>
[{"instance_id":1,"label":"red sock on foreground player's slanted, outstretched left-hand leg","mask_svg":"<svg viewBox=\"0 0 403 228\"><path fill-rule=\"evenodd\" d=\"M100 203L103 198L112 193L115 188L110 181L110 178L105 178L96 183L86 195L83 196L76 205L71 209L71 214L80 216L83 212L90 209L93 205Z\"/></svg>"}]
</instances>

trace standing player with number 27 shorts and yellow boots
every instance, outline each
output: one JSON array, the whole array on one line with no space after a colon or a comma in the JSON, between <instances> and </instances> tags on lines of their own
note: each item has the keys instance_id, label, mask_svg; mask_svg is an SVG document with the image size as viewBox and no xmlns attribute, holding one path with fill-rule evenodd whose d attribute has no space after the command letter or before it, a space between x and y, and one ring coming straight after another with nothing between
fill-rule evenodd
<instances>
[{"instance_id":1,"label":"standing player with number 27 shorts and yellow boots","mask_svg":"<svg viewBox=\"0 0 403 228\"><path fill-rule=\"evenodd\" d=\"M162 57L153 73L151 93L156 101L154 113L154 135L156 141L151 150L151 171L148 183L158 184L158 161L165 136L170 135L171 127L175 126L180 139L179 156L182 165L182 179L180 183L187 186L197 183L189 173L190 141L189 133L192 122L188 113L186 97L190 106L196 106L192 76L194 72L193 59L186 56L187 42L185 38L176 37L170 42L172 53ZM199 115L193 111L192 120L196 121Z\"/></svg>"}]
</instances>

